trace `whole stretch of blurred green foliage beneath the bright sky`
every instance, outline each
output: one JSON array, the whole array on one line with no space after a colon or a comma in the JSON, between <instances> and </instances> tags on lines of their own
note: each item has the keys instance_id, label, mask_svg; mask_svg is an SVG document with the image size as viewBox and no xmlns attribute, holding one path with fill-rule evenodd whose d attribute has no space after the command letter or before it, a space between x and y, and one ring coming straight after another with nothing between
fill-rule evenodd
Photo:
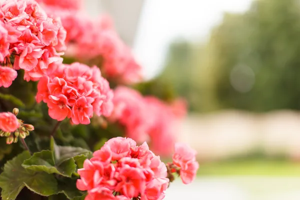
<instances>
[{"instance_id":1,"label":"whole stretch of blurred green foliage beneath the bright sky","mask_svg":"<svg viewBox=\"0 0 300 200\"><path fill-rule=\"evenodd\" d=\"M225 13L206 44L170 46L157 78L192 111L300 109L300 2L255 0Z\"/></svg>"}]
</instances>

